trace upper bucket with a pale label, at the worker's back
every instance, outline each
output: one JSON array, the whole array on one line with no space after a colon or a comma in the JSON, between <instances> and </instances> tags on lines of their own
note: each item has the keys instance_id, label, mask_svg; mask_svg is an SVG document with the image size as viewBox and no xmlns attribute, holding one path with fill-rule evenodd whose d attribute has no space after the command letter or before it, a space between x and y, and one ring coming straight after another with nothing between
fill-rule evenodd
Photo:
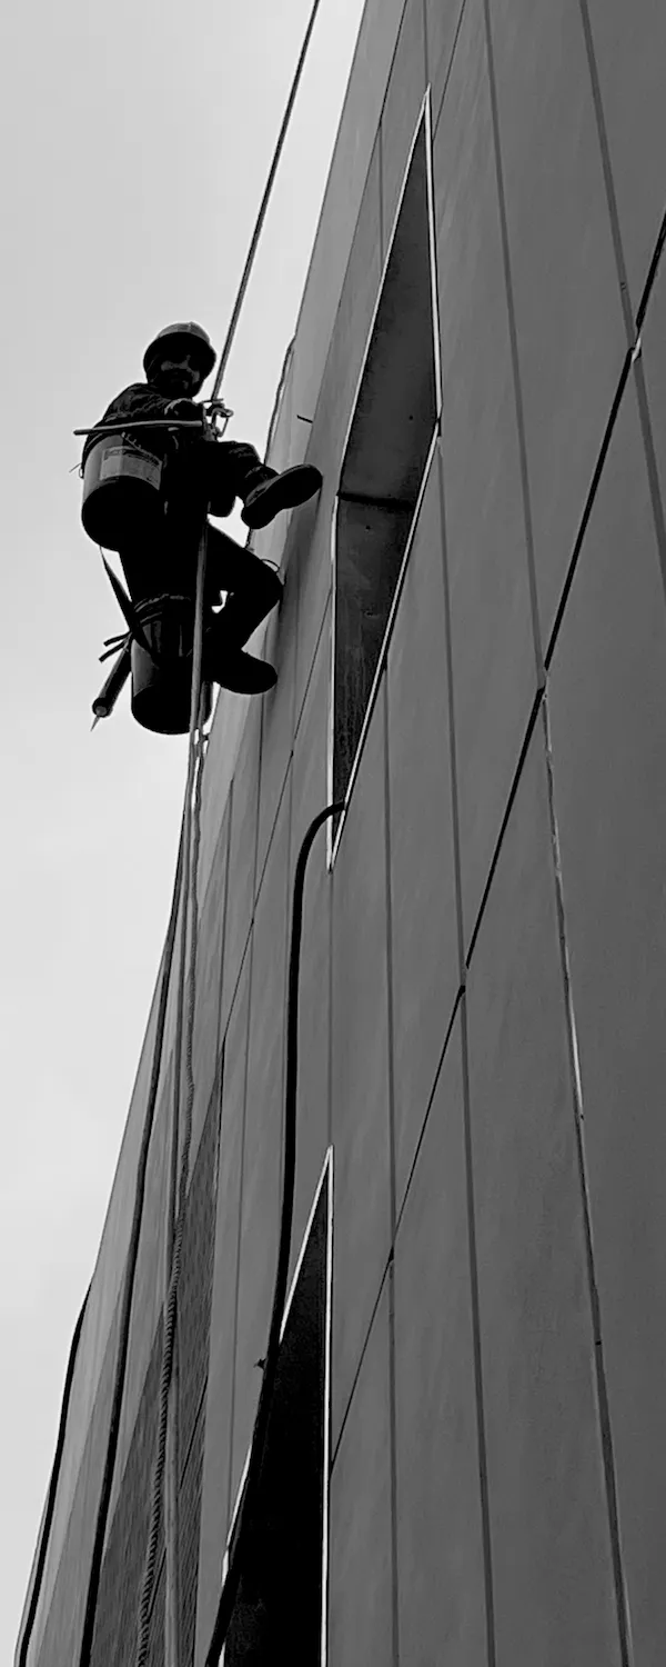
<instances>
[{"instance_id":1,"label":"upper bucket with a pale label, at the worker's back","mask_svg":"<svg viewBox=\"0 0 666 1667\"><path fill-rule=\"evenodd\" d=\"M155 527L163 512L163 463L120 433L105 435L83 465L82 522L88 538L122 550L128 538Z\"/></svg>"}]
</instances>

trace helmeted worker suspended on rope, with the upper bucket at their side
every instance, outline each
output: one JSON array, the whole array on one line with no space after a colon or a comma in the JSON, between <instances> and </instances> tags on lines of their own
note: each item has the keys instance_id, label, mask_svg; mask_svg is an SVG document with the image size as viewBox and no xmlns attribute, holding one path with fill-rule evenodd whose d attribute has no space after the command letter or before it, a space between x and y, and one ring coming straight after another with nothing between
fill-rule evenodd
<instances>
[{"instance_id":1,"label":"helmeted worker suspended on rope, with the upper bucket at their side","mask_svg":"<svg viewBox=\"0 0 666 1667\"><path fill-rule=\"evenodd\" d=\"M213 370L215 357L206 332L196 323L160 330L143 355L147 380L123 388L98 423L98 428L118 425L118 432L112 437L93 432L83 447L83 525L97 543L118 550L132 603L143 617L153 598L193 597L198 540L208 510L228 515L240 498L245 525L266 527L280 510L305 503L321 485L321 473L311 463L276 473L245 442L216 438L211 443L195 395ZM152 428L152 418L160 427ZM125 420L127 433L122 430ZM176 427L170 428L170 422ZM137 430L135 423L147 427ZM123 493L113 490L122 478ZM220 592L226 593L226 603L213 613ZM243 645L280 597L275 570L208 523L206 682L241 693L273 687L275 668L243 652ZM137 710L135 715L140 717Z\"/></svg>"}]
</instances>

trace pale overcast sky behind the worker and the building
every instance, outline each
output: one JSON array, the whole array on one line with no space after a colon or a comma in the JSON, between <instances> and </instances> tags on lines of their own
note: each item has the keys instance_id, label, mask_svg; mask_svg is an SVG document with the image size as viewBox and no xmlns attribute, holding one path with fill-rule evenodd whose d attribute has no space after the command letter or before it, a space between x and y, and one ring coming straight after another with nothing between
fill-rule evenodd
<instances>
[{"instance_id":1,"label":"pale overcast sky behind the worker and the building","mask_svg":"<svg viewBox=\"0 0 666 1667\"><path fill-rule=\"evenodd\" d=\"M90 733L122 628L78 442L196 318L220 347L311 0L13 0L0 15L0 1662L157 977L185 740ZM265 445L363 0L321 0L223 395Z\"/></svg>"}]
</instances>

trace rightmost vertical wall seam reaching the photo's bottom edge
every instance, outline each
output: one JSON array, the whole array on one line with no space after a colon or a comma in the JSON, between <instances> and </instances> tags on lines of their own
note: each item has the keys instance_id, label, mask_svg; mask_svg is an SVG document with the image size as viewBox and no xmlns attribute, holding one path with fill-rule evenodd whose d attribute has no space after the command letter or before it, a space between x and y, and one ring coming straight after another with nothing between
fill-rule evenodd
<instances>
[{"instance_id":1,"label":"rightmost vertical wall seam reaching the photo's bottom edge","mask_svg":"<svg viewBox=\"0 0 666 1667\"><path fill-rule=\"evenodd\" d=\"M623 1544L621 1544L618 1472L614 1459L613 1422L611 1422L606 1360L603 1345L601 1299L599 1299L596 1262L594 1262L589 1174L588 1174L588 1159L584 1150L583 1080L581 1080L576 1014L573 1000L571 957L568 947L568 930L566 930L566 914L564 914L564 884L561 869L559 830L554 808L554 770L553 770L553 742L549 728L548 692L544 693L543 698L543 740L544 740L546 778L548 778L548 817L549 817L551 855L553 855L554 905L558 919L558 939L559 939L564 1015L566 1015L566 1044L569 1057L571 1099L573 1099L573 1117L574 1117L574 1134L576 1134L576 1162L578 1162L578 1180L579 1180L579 1197L581 1197L581 1214L583 1214L584 1260L588 1272L589 1319L593 1330L601 1460L603 1460L604 1487L606 1487L608 1530L611 1540L613 1585L616 1600L621 1664L623 1667L629 1667L633 1660L631 1619L629 1619L629 1600L624 1579L624 1560L623 1560Z\"/></svg>"}]
</instances>

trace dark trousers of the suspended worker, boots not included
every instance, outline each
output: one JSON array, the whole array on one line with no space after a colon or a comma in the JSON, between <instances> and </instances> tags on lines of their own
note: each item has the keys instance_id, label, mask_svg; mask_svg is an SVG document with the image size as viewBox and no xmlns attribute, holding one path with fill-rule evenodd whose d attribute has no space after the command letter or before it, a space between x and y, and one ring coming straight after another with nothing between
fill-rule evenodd
<instances>
[{"instance_id":1,"label":"dark trousers of the suspended worker, boots not included","mask_svg":"<svg viewBox=\"0 0 666 1667\"><path fill-rule=\"evenodd\" d=\"M165 495L155 525L118 552L132 600L145 602L165 593L193 597L206 508L211 515L228 515L236 497L245 498L273 473L260 462L255 447L236 440L190 443L168 457ZM221 590L228 592L225 637L235 647L251 637L281 597L273 568L208 523L206 610L220 600Z\"/></svg>"}]
</instances>

